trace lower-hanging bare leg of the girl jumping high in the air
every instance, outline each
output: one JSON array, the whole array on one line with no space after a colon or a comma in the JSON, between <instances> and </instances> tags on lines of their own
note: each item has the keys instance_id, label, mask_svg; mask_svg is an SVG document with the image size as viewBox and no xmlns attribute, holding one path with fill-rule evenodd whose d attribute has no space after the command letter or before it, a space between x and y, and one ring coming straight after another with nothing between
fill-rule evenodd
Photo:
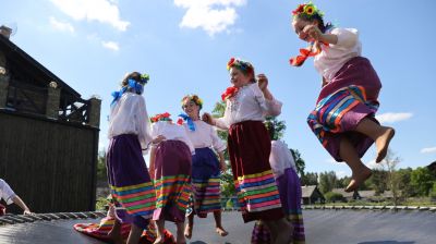
<instances>
[{"instance_id":1,"label":"lower-hanging bare leg of the girl jumping high in the air","mask_svg":"<svg viewBox=\"0 0 436 244\"><path fill-rule=\"evenodd\" d=\"M353 192L371 176L372 171L362 163L358 151L347 137L342 137L340 142L339 156L343 159L343 161L346 161L352 171L351 181L347 186L346 192Z\"/></svg>"}]
</instances>

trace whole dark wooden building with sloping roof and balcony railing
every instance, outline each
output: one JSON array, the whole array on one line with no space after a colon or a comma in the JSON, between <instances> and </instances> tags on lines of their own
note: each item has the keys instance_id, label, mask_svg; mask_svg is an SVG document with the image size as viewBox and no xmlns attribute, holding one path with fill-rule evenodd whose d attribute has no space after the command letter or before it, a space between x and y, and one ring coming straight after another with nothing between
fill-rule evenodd
<instances>
[{"instance_id":1,"label":"whole dark wooden building with sloping roof and balcony railing","mask_svg":"<svg viewBox=\"0 0 436 244\"><path fill-rule=\"evenodd\" d=\"M9 32L0 27L0 178L33 211L94 210L101 101L83 99Z\"/></svg>"}]
</instances>

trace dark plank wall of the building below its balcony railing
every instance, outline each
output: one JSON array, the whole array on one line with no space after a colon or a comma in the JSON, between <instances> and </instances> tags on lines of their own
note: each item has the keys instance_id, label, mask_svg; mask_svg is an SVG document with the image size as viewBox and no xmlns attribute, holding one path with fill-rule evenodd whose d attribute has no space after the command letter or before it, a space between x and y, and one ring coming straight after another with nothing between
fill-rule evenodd
<instances>
[{"instance_id":1,"label":"dark plank wall of the building below its balcony railing","mask_svg":"<svg viewBox=\"0 0 436 244\"><path fill-rule=\"evenodd\" d=\"M35 212L94 210L98 132L0 111L0 178Z\"/></svg>"}]
</instances>

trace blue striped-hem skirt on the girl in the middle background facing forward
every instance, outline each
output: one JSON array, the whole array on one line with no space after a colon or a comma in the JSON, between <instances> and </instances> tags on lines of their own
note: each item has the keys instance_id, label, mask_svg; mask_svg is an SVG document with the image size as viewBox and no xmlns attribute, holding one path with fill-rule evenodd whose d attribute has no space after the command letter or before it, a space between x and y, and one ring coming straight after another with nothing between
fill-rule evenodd
<instances>
[{"instance_id":1,"label":"blue striped-hem skirt on the girl in the middle background facing forward","mask_svg":"<svg viewBox=\"0 0 436 244\"><path fill-rule=\"evenodd\" d=\"M206 218L207 212L220 211L220 167L217 155L209 147L196 148L192 157L194 213Z\"/></svg>"}]
</instances>

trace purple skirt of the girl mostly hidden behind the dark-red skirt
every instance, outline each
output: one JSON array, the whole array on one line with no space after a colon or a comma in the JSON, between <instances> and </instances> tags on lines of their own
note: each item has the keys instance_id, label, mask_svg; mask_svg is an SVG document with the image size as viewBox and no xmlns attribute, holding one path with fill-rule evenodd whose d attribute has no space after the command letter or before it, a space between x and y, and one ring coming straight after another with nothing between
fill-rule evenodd
<instances>
[{"instance_id":1,"label":"purple skirt of the girl mostly hidden behind the dark-red skirt","mask_svg":"<svg viewBox=\"0 0 436 244\"><path fill-rule=\"evenodd\" d=\"M284 211L288 221L293 227L292 235L293 244L304 244L304 223L301 210L301 183L299 175L292 168L284 170L284 173L276 179L280 192L280 200L282 210ZM270 233L268 228L262 222L256 221L252 233L252 244L270 243Z\"/></svg>"}]
</instances>

